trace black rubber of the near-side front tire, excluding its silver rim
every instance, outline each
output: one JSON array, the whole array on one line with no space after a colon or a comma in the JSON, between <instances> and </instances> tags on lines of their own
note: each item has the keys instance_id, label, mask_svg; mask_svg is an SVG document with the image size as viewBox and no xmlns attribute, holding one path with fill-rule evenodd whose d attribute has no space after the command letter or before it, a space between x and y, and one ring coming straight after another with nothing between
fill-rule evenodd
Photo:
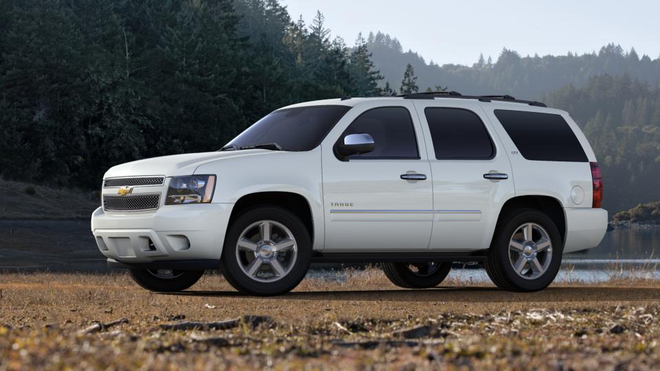
<instances>
[{"instance_id":1,"label":"black rubber of the near-side front tire, excluding its silver rim","mask_svg":"<svg viewBox=\"0 0 660 371\"><path fill-rule=\"evenodd\" d=\"M282 223L292 232L298 247L298 256L294 267L287 276L274 282L259 282L252 280L243 273L236 260L236 243L241 233L252 223L271 220ZM280 295L294 289L305 278L311 259L311 238L303 222L288 210L276 206L254 207L243 212L230 225L222 252L222 271L227 281L239 291L251 295Z\"/></svg>"}]
</instances>

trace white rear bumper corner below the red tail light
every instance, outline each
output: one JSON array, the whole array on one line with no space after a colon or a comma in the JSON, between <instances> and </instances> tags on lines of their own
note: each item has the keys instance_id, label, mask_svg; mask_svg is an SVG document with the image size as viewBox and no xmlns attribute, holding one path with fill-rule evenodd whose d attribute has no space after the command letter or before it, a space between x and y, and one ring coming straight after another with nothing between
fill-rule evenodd
<instances>
[{"instance_id":1,"label":"white rear bumper corner below the red tail light","mask_svg":"<svg viewBox=\"0 0 660 371\"><path fill-rule=\"evenodd\" d=\"M596 247L607 231L607 210L574 207L566 211L564 254Z\"/></svg>"}]
</instances>

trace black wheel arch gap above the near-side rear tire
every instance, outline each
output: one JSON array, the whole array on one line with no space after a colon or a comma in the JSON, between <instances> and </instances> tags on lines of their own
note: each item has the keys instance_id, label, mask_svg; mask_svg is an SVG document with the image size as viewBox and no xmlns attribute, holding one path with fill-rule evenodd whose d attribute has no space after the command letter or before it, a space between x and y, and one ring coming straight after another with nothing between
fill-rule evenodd
<instances>
[{"instance_id":1,"label":"black wheel arch gap above the near-side rear tire","mask_svg":"<svg viewBox=\"0 0 660 371\"><path fill-rule=\"evenodd\" d=\"M566 242L566 212L562 203L553 196L544 195L525 195L516 196L508 199L497 218L495 230L500 227L500 223L504 218L515 212L515 210L522 208L531 208L546 214L555 223L559 234L562 237L562 244ZM492 241L496 239L496 234L493 234Z\"/></svg>"}]
</instances>

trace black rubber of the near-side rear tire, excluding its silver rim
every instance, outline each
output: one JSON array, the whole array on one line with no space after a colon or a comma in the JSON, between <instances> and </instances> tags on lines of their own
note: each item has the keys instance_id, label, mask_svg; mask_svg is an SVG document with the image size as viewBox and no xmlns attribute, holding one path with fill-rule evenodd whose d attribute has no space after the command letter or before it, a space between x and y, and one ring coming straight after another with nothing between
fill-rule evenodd
<instances>
[{"instance_id":1,"label":"black rubber of the near-side rear tire, excluding its silver rim","mask_svg":"<svg viewBox=\"0 0 660 371\"><path fill-rule=\"evenodd\" d=\"M518 276L511 266L509 260L509 242L516 229L525 223L536 223L548 232L552 243L552 260L545 273L534 280L527 280ZM490 257L495 259L496 269L504 273L502 278L506 280L507 286L514 291L538 291L546 288L553 282L562 265L562 254L564 243L557 226L551 218L536 210L521 210L505 219L502 227L498 228L498 235Z\"/></svg>"}]
</instances>

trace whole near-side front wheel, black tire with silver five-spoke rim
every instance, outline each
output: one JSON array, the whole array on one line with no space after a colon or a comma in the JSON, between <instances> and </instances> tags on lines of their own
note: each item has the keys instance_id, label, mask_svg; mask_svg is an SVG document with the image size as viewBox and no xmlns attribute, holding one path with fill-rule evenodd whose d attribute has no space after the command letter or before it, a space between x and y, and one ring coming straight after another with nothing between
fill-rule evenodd
<instances>
[{"instance_id":1,"label":"whole near-side front wheel, black tire with silver five-spoke rim","mask_svg":"<svg viewBox=\"0 0 660 371\"><path fill-rule=\"evenodd\" d=\"M298 216L281 207L261 206L243 212L230 225L221 270L243 293L281 295L305 278L310 258L311 238Z\"/></svg>"}]
</instances>

